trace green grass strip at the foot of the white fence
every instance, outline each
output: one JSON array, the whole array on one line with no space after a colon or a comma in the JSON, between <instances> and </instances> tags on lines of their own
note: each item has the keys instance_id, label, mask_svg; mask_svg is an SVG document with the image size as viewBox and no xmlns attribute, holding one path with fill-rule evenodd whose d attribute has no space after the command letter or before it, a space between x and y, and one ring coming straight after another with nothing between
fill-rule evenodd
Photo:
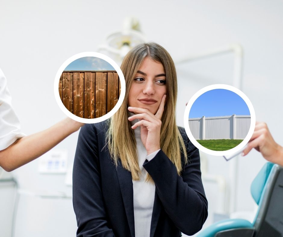
<instances>
[{"instance_id":1,"label":"green grass strip at the foot of the white fence","mask_svg":"<svg viewBox=\"0 0 283 237\"><path fill-rule=\"evenodd\" d=\"M243 140L236 139L211 139L197 140L202 146L213 151L226 151L238 146Z\"/></svg>"}]
</instances>

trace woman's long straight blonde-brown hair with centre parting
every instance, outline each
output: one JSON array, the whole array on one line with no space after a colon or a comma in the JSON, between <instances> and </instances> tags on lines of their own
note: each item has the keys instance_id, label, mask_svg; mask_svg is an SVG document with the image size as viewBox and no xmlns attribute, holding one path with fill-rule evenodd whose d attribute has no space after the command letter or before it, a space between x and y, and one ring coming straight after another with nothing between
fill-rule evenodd
<instances>
[{"instance_id":1,"label":"woman's long straight blonde-brown hair with centre parting","mask_svg":"<svg viewBox=\"0 0 283 237\"><path fill-rule=\"evenodd\" d=\"M126 81L125 99L120 109L110 119L106 137L114 163L117 165L120 160L123 168L132 173L133 180L139 180L140 169L135 134L128 120L128 97L135 74L145 57L162 63L166 74L166 104L161 118L160 147L176 166L179 175L182 171L181 153L184 154L185 162L187 162L185 144L175 118L177 75L173 60L169 53L156 43L139 44L129 51L122 62L121 70ZM152 181L149 175L148 180Z\"/></svg>"}]
</instances>

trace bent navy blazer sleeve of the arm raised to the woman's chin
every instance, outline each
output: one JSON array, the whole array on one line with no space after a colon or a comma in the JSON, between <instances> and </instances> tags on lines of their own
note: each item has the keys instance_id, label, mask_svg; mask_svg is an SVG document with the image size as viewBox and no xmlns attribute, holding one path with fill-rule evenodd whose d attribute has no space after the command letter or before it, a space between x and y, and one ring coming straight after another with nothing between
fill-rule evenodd
<instances>
[{"instance_id":1,"label":"bent navy blazer sleeve of the arm raised to the woman's chin","mask_svg":"<svg viewBox=\"0 0 283 237\"><path fill-rule=\"evenodd\" d=\"M175 226L184 234L193 235L201 230L207 218L207 199L201 181L199 151L185 137L188 163L181 176L162 149L151 161L146 160L143 167L154 180L158 197Z\"/></svg>"}]
</instances>

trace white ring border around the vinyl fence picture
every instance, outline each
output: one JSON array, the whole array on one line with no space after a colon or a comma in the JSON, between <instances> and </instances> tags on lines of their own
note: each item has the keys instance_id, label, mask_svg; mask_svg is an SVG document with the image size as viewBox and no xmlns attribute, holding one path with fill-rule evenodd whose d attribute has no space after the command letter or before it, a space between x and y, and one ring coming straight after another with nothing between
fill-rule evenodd
<instances>
[{"instance_id":1,"label":"white ring border around the vinyl fence picture","mask_svg":"<svg viewBox=\"0 0 283 237\"><path fill-rule=\"evenodd\" d=\"M200 143L197 142L197 140L194 139L191 130L189 128L189 122L188 122L188 118L189 118L189 112L191 109L191 106L193 105L193 103L195 102L195 100L197 100L197 98L199 96L201 96L202 94L204 94L207 91L211 91L214 89L225 89L225 90L229 90L229 91L233 91L236 94L238 94L238 96L240 96L247 104L249 110L250 110L250 130L247 134L247 136L245 137L245 139L238 145L235 146L232 149L226 150L226 151L213 151L210 149L205 148L204 146L202 146ZM196 146L198 149L200 149L202 152L205 152L209 155L232 155L235 154L236 152L238 152L239 150L241 150L250 140L251 136L253 135L253 131L254 131L254 127L256 125L256 115L253 109L253 105L250 102L249 98L239 89L230 86L230 85L225 85L225 84L215 84L215 85L210 85L207 87L202 88L201 90L197 91L196 94L194 94L191 99L189 100L186 109L185 109L185 114L184 114L184 126L185 126L185 131L188 135L188 138L190 139L190 141L194 144L194 146Z\"/></svg>"}]
</instances>

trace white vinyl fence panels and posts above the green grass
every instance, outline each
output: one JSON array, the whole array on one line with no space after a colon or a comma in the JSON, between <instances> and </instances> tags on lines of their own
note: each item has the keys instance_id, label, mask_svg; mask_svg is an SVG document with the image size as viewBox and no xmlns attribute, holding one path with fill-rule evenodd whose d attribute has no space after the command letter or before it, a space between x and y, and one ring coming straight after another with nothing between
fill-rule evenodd
<instances>
[{"instance_id":1,"label":"white vinyl fence panels and posts above the green grass","mask_svg":"<svg viewBox=\"0 0 283 237\"><path fill-rule=\"evenodd\" d=\"M189 118L189 127L196 140L244 139L250 129L250 115Z\"/></svg>"}]
</instances>

